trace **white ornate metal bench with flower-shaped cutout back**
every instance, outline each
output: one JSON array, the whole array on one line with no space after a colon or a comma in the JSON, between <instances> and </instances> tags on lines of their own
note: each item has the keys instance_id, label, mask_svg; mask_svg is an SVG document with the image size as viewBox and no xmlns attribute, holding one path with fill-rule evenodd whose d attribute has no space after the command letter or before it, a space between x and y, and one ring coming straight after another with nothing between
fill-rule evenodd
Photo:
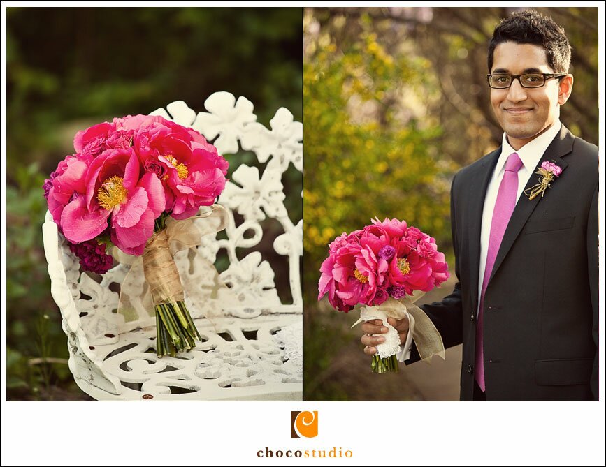
<instances>
[{"instance_id":1,"label":"white ornate metal bench with flower-shaped cutout back","mask_svg":"<svg viewBox=\"0 0 606 467\"><path fill-rule=\"evenodd\" d=\"M218 257L225 258L219 277L228 288L219 299L226 318L215 329L197 304L188 303L203 337L192 351L159 359L155 318L140 313L137 320L125 323L116 312L118 285L129 267L117 265L100 283L81 274L78 258L47 212L44 249L52 297L61 309L68 338L69 368L94 399L303 399L303 222L295 224L289 218L282 185L291 163L302 170L303 126L280 108L266 128L257 122L250 101L243 97L236 101L226 92L212 94L205 108L208 112L196 114L177 101L167 105L168 112L159 109L152 114L200 131L230 162L230 154L243 150L252 151L258 164L239 165L219 198L229 213L224 233L208 235L194 251L175 256L180 274L199 281L203 260L215 263ZM280 299L273 268L258 251L267 218L275 220L273 230L280 225L282 233L275 237L273 249L284 260L280 274L289 276L291 299Z\"/></svg>"}]
</instances>

